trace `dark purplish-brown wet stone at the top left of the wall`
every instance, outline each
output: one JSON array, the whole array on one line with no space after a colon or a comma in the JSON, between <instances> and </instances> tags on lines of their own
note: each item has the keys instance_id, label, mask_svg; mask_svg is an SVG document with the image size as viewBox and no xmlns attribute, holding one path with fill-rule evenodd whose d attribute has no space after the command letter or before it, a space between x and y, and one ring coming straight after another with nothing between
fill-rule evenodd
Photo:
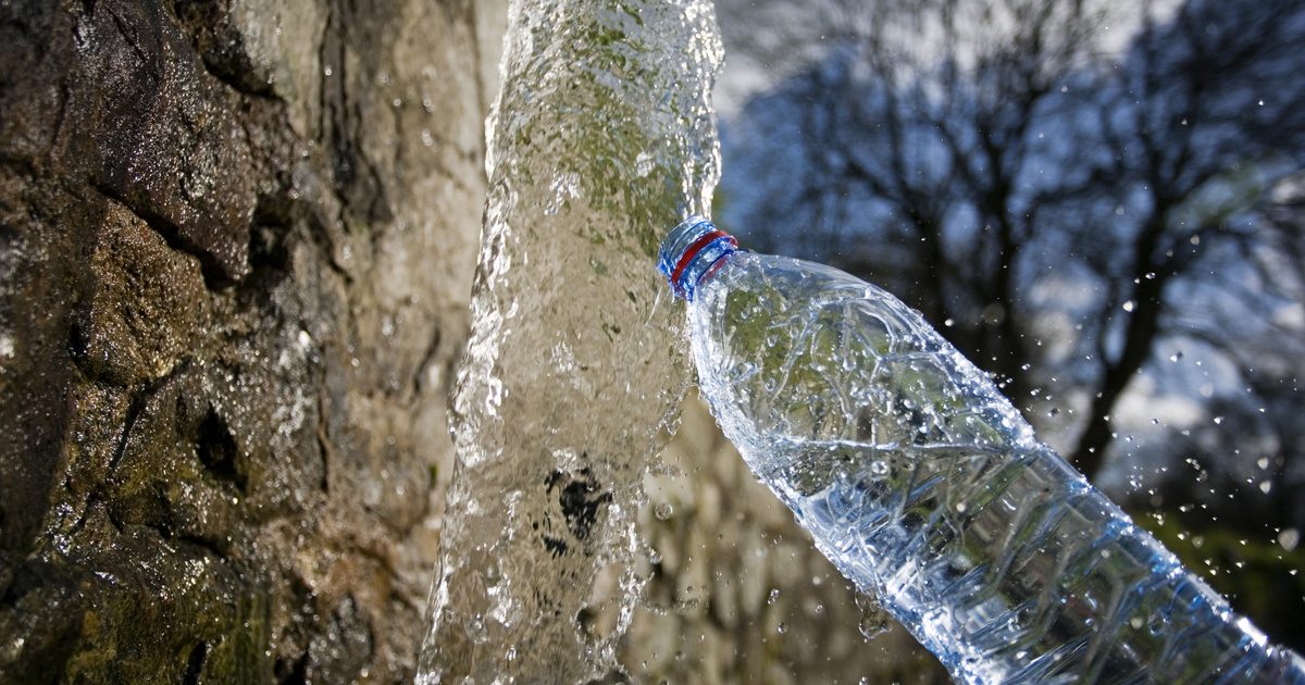
<instances>
[{"instance_id":1,"label":"dark purplish-brown wet stone at the top left of the wall","mask_svg":"<svg viewBox=\"0 0 1305 685\"><path fill-rule=\"evenodd\" d=\"M159 5L97 3L78 29L86 57L65 78L99 87L69 86L61 162L196 254L209 278L244 278L257 188L239 98Z\"/></svg>"}]
</instances>

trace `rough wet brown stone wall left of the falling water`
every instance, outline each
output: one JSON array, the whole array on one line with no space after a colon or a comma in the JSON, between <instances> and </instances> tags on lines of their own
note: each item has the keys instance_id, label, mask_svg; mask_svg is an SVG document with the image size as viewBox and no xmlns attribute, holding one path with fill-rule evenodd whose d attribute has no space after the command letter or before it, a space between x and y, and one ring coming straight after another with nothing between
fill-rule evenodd
<instances>
[{"instance_id":1,"label":"rough wet brown stone wall left of the falling water","mask_svg":"<svg viewBox=\"0 0 1305 685\"><path fill-rule=\"evenodd\" d=\"M504 21L0 4L0 682L411 677Z\"/></svg>"}]
</instances>

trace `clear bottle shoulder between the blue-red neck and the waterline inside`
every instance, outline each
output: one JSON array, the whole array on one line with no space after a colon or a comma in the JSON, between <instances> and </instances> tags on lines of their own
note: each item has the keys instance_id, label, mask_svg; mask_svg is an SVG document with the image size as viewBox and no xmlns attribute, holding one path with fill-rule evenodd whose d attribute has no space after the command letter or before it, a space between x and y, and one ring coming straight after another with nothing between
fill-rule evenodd
<instances>
[{"instance_id":1,"label":"clear bottle shoulder between the blue-red neck and the waterline inside","mask_svg":"<svg viewBox=\"0 0 1305 685\"><path fill-rule=\"evenodd\" d=\"M739 257L699 291L690 330L702 391L745 453L1032 444L987 376L897 297L826 266Z\"/></svg>"}]
</instances>

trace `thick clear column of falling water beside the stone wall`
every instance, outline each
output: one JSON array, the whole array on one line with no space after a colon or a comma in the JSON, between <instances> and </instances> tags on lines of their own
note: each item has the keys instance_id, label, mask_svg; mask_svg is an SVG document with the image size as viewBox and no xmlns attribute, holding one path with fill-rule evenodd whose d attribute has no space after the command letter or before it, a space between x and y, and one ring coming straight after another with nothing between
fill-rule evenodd
<instances>
[{"instance_id":1,"label":"thick clear column of falling water beside the stone wall","mask_svg":"<svg viewBox=\"0 0 1305 685\"><path fill-rule=\"evenodd\" d=\"M509 8L418 682L615 665L642 474L688 384L649 265L667 226L710 205L719 63L706 0Z\"/></svg>"}]
</instances>

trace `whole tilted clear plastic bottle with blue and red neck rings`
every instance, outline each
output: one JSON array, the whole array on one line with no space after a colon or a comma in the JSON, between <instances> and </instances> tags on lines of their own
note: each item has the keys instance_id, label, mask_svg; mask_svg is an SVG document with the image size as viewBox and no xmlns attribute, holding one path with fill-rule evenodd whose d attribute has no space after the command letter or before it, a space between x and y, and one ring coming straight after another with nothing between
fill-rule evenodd
<instances>
[{"instance_id":1,"label":"whole tilted clear plastic bottle with blue and red neck rings","mask_svg":"<svg viewBox=\"0 0 1305 685\"><path fill-rule=\"evenodd\" d=\"M887 292L702 218L659 269L726 436L957 680L1305 682Z\"/></svg>"}]
</instances>

